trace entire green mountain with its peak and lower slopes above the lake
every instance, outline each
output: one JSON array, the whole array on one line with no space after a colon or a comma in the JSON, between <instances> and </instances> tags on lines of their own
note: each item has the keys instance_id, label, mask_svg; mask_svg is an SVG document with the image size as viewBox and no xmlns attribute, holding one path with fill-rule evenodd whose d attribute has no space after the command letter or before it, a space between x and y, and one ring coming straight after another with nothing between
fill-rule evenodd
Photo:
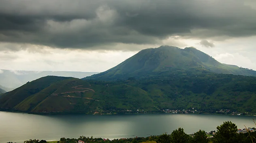
<instances>
[{"instance_id":1,"label":"entire green mountain with its peak and lower slopes above the lake","mask_svg":"<svg viewBox=\"0 0 256 143\"><path fill-rule=\"evenodd\" d=\"M194 108L256 114L254 75L195 48L161 46L83 79L47 76L28 82L1 94L0 110L112 114Z\"/></svg>"}]
</instances>

